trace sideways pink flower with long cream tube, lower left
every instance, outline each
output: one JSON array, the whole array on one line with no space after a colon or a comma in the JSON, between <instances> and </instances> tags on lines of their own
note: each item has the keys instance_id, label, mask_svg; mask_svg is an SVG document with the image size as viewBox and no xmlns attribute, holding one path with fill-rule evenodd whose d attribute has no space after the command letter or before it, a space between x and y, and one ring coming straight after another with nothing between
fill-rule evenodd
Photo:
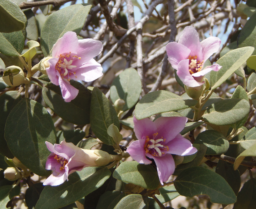
<instances>
[{"instance_id":1,"label":"sideways pink flower with long cream tube, lower left","mask_svg":"<svg viewBox=\"0 0 256 209\"><path fill-rule=\"evenodd\" d=\"M45 142L52 152L46 161L46 169L52 170L52 174L45 180L43 185L57 186L68 180L68 175L81 171L89 166L102 166L113 161L112 155L102 150L90 150L76 147L73 143L52 145Z\"/></svg>"}]
</instances>

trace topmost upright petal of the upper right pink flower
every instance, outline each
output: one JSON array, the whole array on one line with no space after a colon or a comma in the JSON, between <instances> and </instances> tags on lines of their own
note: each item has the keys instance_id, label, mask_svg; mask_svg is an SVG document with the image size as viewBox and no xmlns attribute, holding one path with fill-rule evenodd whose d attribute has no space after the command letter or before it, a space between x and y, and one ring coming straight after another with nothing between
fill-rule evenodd
<instances>
[{"instance_id":1,"label":"topmost upright petal of the upper right pink flower","mask_svg":"<svg viewBox=\"0 0 256 209\"><path fill-rule=\"evenodd\" d=\"M191 56L197 56L200 61L203 59L202 47L200 45L197 31L192 26L187 26L183 30L178 43L188 47Z\"/></svg>"}]
</instances>

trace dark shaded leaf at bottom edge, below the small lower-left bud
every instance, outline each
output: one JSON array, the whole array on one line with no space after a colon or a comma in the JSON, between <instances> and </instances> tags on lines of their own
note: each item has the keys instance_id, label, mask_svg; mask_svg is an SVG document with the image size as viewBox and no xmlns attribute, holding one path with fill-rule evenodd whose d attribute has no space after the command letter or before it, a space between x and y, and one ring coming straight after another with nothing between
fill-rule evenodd
<instances>
[{"instance_id":1,"label":"dark shaded leaf at bottom edge, below the small lower-left bud","mask_svg":"<svg viewBox=\"0 0 256 209\"><path fill-rule=\"evenodd\" d=\"M27 204L28 209L33 209L36 206L37 201L39 200L40 194L43 191L43 183L35 183L32 184L30 187L27 188L25 194L25 201Z\"/></svg>"}]
</instances>

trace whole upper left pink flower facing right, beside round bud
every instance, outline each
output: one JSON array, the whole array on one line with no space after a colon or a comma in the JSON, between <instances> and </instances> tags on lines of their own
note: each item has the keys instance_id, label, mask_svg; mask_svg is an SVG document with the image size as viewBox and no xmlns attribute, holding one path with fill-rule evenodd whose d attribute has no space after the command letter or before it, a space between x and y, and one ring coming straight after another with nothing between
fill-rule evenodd
<instances>
[{"instance_id":1,"label":"whole upper left pink flower facing right, beside round bud","mask_svg":"<svg viewBox=\"0 0 256 209\"><path fill-rule=\"evenodd\" d=\"M86 82L99 78L102 67L93 57L103 49L101 41L93 39L78 40L75 32L66 32L52 47L52 57L46 68L49 79L61 86L62 96L66 102L75 99L78 90L70 84L70 80Z\"/></svg>"}]
</instances>

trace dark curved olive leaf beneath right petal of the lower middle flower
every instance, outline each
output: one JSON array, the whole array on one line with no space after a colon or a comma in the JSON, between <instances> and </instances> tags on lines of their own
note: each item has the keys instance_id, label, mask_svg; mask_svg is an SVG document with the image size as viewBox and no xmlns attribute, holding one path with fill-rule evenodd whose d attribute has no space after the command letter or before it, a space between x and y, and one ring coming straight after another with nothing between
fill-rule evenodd
<instances>
[{"instance_id":1,"label":"dark curved olive leaf beneath right petal of the lower middle flower","mask_svg":"<svg viewBox=\"0 0 256 209\"><path fill-rule=\"evenodd\" d=\"M175 171L172 175L178 176L182 171L186 170L187 168L200 165L202 159L204 158L207 147L204 144L199 144L199 148L198 148L197 146L195 146L195 143L193 144L193 146L195 148L197 148L197 150L198 150L194 160L192 160L189 163L182 163L182 164L178 165L175 168Z\"/></svg>"}]
</instances>

